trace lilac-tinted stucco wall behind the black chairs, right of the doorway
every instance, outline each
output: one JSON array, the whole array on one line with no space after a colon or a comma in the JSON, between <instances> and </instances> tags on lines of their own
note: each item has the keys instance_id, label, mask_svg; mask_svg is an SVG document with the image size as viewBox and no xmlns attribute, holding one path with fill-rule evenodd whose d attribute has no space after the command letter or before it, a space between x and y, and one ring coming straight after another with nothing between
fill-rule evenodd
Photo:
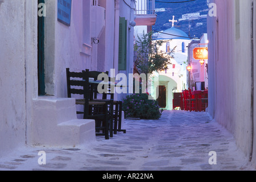
<instances>
[{"instance_id":1,"label":"lilac-tinted stucco wall behind the black chairs, right of the doorway","mask_svg":"<svg viewBox=\"0 0 256 182\"><path fill-rule=\"evenodd\" d=\"M54 3L53 3L54 2ZM57 2L50 0L52 6L57 6ZM72 15L71 26L67 27L60 23L56 19L56 8L52 6L52 16L49 18L48 25L49 42L52 42L54 51L48 48L48 53L51 61L46 63L49 68L48 75L50 76L48 81L52 84L49 85L49 94L56 97L66 97L67 89L65 68L71 68L72 70L81 71L81 69L90 69L93 71L109 71L115 69L115 75L118 72L118 39L119 39L119 16L127 19L127 69L126 71L120 71L121 73L133 73L133 27L129 28L129 22L134 20L133 1L130 6L127 6L123 1L98 1L98 4L105 9L105 26L98 37L99 43L94 44L92 40L90 42L83 42L83 36L91 36L94 30L92 22L88 19L88 16L81 16L83 13L82 7L88 2L82 2L79 0L72 1ZM90 4L90 3L89 3ZM89 6L89 5L88 5ZM92 11L92 10L91 10ZM55 16L53 16L55 14ZM88 12L89 14L89 12ZM92 19L94 14L90 14ZM54 20L52 20L54 19ZM85 21L90 22L90 32L85 34L83 32L82 23ZM52 28L55 27L55 28ZM54 32L54 38L52 38L52 32ZM90 34L89 34L90 33ZM47 42L46 42L47 44ZM54 70L52 70L52 64L54 64ZM52 72L53 71L53 72ZM128 77L128 76L127 76ZM46 83L47 85L47 83ZM125 94L118 94L117 99L122 100Z\"/></svg>"}]
</instances>

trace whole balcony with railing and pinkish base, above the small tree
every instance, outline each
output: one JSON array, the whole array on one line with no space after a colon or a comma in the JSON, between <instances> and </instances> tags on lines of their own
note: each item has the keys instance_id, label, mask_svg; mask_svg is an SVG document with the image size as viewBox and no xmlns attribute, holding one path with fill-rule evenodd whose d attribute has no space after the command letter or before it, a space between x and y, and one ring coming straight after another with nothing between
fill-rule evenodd
<instances>
[{"instance_id":1,"label":"whole balcony with railing and pinkish base, above the small tree","mask_svg":"<svg viewBox=\"0 0 256 182\"><path fill-rule=\"evenodd\" d=\"M137 26L153 26L156 22L155 0L137 0L135 16Z\"/></svg>"}]
</instances>

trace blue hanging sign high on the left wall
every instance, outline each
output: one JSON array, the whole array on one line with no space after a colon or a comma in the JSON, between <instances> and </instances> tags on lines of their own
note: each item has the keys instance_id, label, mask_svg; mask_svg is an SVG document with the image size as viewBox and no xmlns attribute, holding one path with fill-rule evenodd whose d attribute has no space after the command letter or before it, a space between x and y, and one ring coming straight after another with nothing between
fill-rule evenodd
<instances>
[{"instance_id":1,"label":"blue hanging sign high on the left wall","mask_svg":"<svg viewBox=\"0 0 256 182\"><path fill-rule=\"evenodd\" d=\"M58 21L67 26L71 24L71 3L72 0L58 0Z\"/></svg>"}]
</instances>

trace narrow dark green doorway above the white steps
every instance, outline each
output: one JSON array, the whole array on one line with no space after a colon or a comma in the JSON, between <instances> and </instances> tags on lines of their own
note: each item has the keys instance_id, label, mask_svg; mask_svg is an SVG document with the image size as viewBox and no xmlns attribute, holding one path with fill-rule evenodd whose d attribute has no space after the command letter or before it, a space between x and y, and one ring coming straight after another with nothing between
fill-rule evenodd
<instances>
[{"instance_id":1,"label":"narrow dark green doorway above the white steps","mask_svg":"<svg viewBox=\"0 0 256 182\"><path fill-rule=\"evenodd\" d=\"M38 0L38 5L45 3ZM39 9L38 9L39 10ZM38 94L46 94L46 84L44 81L44 16L38 16Z\"/></svg>"}]
</instances>

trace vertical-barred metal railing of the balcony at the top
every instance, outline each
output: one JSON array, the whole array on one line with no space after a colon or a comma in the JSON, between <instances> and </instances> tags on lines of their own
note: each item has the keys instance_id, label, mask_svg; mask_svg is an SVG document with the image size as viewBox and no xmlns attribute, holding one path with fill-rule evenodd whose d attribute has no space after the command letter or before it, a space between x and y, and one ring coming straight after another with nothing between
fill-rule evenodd
<instances>
[{"instance_id":1,"label":"vertical-barred metal railing of the balcony at the top","mask_svg":"<svg viewBox=\"0 0 256 182\"><path fill-rule=\"evenodd\" d=\"M136 0L135 15L155 15L155 0Z\"/></svg>"}]
</instances>

